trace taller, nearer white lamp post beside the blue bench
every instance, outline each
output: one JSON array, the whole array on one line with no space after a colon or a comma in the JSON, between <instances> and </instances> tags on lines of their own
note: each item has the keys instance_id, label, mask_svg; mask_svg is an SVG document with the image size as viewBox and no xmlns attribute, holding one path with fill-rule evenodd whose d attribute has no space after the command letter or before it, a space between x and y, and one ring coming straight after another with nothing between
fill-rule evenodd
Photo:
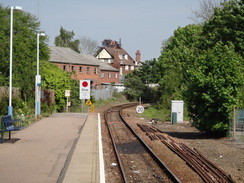
<instances>
[{"instance_id":1,"label":"taller, nearer white lamp post beside the blue bench","mask_svg":"<svg viewBox=\"0 0 244 183\"><path fill-rule=\"evenodd\" d=\"M10 8L10 56L9 56L9 106L8 115L13 115L12 107L12 56L13 56L13 11L22 10L20 6L11 6Z\"/></svg>"}]
</instances>

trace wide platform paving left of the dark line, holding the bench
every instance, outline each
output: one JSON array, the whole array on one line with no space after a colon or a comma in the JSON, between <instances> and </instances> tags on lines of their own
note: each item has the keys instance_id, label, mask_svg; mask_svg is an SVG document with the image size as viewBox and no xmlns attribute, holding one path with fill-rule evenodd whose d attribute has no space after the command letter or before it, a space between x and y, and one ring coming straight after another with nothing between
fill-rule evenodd
<instances>
[{"instance_id":1,"label":"wide platform paving left of the dark line, holding the bench","mask_svg":"<svg viewBox=\"0 0 244 183\"><path fill-rule=\"evenodd\" d=\"M87 116L57 113L13 133L0 144L0 182L57 182Z\"/></svg>"}]
</instances>

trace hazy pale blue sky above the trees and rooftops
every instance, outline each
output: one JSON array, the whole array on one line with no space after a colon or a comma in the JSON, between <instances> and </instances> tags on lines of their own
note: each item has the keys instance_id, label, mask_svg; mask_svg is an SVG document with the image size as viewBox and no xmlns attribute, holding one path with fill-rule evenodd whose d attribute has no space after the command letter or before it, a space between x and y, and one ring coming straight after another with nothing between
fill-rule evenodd
<instances>
[{"instance_id":1,"label":"hazy pale blue sky above the trees and rooftops","mask_svg":"<svg viewBox=\"0 0 244 183\"><path fill-rule=\"evenodd\" d=\"M41 30L49 36L48 44L61 26L74 31L74 39L82 36L96 40L118 41L135 59L141 51L141 61L160 56L162 41L178 27L193 24L193 11L199 0L1 0L4 7L21 6L38 17Z\"/></svg>"}]
</instances>

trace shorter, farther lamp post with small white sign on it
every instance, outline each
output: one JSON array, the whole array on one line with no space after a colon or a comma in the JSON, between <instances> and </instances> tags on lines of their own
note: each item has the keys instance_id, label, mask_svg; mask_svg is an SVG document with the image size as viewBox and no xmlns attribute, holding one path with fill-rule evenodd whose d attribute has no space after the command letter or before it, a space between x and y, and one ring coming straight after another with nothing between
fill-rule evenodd
<instances>
[{"instance_id":1,"label":"shorter, farther lamp post with small white sign on it","mask_svg":"<svg viewBox=\"0 0 244 183\"><path fill-rule=\"evenodd\" d=\"M36 63L36 83L35 83L35 117L41 114L41 75L39 74L39 39L40 36L45 36L44 33L37 33L37 63Z\"/></svg>"}]
</instances>

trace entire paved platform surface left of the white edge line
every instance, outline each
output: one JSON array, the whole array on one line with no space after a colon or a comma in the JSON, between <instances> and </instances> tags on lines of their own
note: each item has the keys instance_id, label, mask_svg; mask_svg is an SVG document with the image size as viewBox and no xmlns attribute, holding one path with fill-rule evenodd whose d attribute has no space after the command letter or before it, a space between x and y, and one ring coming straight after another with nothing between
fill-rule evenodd
<instances>
[{"instance_id":1,"label":"entire paved platform surface left of the white edge line","mask_svg":"<svg viewBox=\"0 0 244 183\"><path fill-rule=\"evenodd\" d=\"M0 144L0 182L99 182L98 149L98 114L53 114Z\"/></svg>"}]
</instances>

